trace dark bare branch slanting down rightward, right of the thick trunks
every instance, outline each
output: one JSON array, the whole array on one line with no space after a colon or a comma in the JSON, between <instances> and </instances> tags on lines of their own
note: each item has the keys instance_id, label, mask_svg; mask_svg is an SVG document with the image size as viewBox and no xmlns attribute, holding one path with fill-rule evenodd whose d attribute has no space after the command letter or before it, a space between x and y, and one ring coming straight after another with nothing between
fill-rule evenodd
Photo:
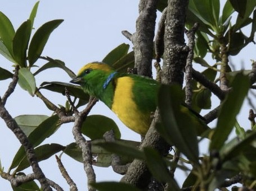
<instances>
[{"instance_id":1,"label":"dark bare branch slanting down rightward, right of the thick trunks","mask_svg":"<svg viewBox=\"0 0 256 191\"><path fill-rule=\"evenodd\" d=\"M200 72L195 71L195 69L192 69L192 77L197 81L200 82L204 87L208 88L210 91L213 92L214 95L216 95L220 100L223 100L225 97L225 92L219 88L215 83L211 82L204 76L204 74L201 74Z\"/></svg>"}]
</instances>

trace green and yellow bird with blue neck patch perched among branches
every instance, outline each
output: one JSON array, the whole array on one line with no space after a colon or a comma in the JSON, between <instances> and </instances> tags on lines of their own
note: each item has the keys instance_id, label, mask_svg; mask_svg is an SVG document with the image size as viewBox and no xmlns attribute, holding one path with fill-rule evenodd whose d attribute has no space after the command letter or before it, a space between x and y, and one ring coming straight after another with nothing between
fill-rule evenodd
<instances>
[{"instance_id":1,"label":"green and yellow bird with blue neck patch perched among branches","mask_svg":"<svg viewBox=\"0 0 256 191\"><path fill-rule=\"evenodd\" d=\"M70 82L79 84L89 95L104 102L128 128L146 134L156 109L159 82L116 72L101 62L82 67Z\"/></svg>"}]
</instances>

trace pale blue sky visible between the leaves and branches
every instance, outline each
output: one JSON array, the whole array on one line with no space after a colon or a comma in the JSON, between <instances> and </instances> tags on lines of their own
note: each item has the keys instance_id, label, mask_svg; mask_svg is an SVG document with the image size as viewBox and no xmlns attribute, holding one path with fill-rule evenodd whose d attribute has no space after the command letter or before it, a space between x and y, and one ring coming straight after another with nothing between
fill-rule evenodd
<instances>
[{"instance_id":1,"label":"pale blue sky visible between the leaves and branches","mask_svg":"<svg viewBox=\"0 0 256 191\"><path fill-rule=\"evenodd\" d=\"M10 18L14 24L15 30L24 22L30 14L35 2L32 0L2 0L0 11ZM122 30L130 32L135 31L135 23L138 16L137 1L61 1L61 0L43 0L39 3L37 17L35 18L34 27L38 29L44 22L54 19L64 19L64 22L53 31L46 48L42 55L60 59L65 62L66 66L77 73L78 69L88 62L102 60L107 53L117 45L122 43L131 43L121 34ZM232 61L239 64L244 61L244 68L250 69L249 59L255 59L255 45L250 44L249 48L242 50L239 57L232 58ZM44 62L39 61L36 64L42 66ZM213 64L213 61L210 62ZM9 70L13 68L12 63L0 55L0 66ZM237 67L239 68L239 67ZM36 77L37 85L43 81L62 81L69 82L70 77L60 71L60 69L50 69L42 72ZM10 80L0 81L0 95L6 90ZM65 103L65 97L50 91L42 91L55 104ZM51 115L51 111L44 106L41 100L21 90L17 86L14 94L7 100L7 109L12 117L21 114L45 114ZM113 118L120 127L122 138L140 140L140 136L128 128L115 117L115 115L101 103L97 103L91 114L104 114ZM248 108L239 116L242 124L249 125L247 120ZM71 129L73 124L63 125L52 137L44 143L60 143L68 145L74 142ZM11 164L11 161L19 148L20 144L14 134L6 127L3 120L0 119L0 159L5 170ZM63 155L64 163L71 178L78 185L79 190L87 190L87 178L83 170L83 165L70 159L69 156ZM64 190L68 190L68 184L61 177L55 157L39 164L47 178L56 181ZM119 180L120 175L113 173L111 168L95 167L97 181L102 180ZM31 169L26 170L31 173ZM180 175L179 175L180 176ZM181 177L180 177L181 178ZM0 178L0 189L11 190L10 183Z\"/></svg>"}]
</instances>

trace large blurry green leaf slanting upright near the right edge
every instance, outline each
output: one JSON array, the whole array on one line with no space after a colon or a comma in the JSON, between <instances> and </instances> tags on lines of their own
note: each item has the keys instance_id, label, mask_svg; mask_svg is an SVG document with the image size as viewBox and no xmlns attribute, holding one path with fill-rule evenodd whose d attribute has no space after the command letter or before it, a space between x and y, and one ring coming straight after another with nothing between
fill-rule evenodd
<instances>
[{"instance_id":1,"label":"large blurry green leaf slanting upright near the right edge","mask_svg":"<svg viewBox=\"0 0 256 191\"><path fill-rule=\"evenodd\" d=\"M236 122L236 115L239 113L250 87L249 77L238 73L231 87L232 91L226 96L222 108L219 111L217 127L210 143L210 150L219 150L232 131L233 125Z\"/></svg>"}]
</instances>

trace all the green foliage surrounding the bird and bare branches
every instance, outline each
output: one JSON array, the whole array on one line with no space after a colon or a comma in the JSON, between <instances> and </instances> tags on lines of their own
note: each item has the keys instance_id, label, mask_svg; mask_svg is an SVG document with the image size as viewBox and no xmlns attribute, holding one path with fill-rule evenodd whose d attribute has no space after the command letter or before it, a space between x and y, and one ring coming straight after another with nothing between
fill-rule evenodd
<instances>
[{"instance_id":1,"label":"all the green foliage surrounding the bird and bare branches","mask_svg":"<svg viewBox=\"0 0 256 191\"><path fill-rule=\"evenodd\" d=\"M88 103L89 95L84 93L79 86L64 82L43 82L40 86L36 83L37 74L48 71L53 67L64 70L70 78L75 74L65 66L59 59L42 57L44 46L50 38L51 33L63 20L52 20L43 24L33 32L34 18L37 14L39 2L37 2L28 20L15 31L11 21L0 12L0 54L10 60L15 66L19 65L19 85L30 95L39 95L39 90L46 89L52 92L74 97L75 109ZM167 6L167 1L161 0L158 10L163 11ZM220 8L219 0L190 0L187 10L187 29L198 22L199 30L196 32L194 49L194 62L204 67L201 72L210 82L216 83L219 72L218 65L226 64L224 56L237 55L246 45L253 42L256 31L256 1L230 0L226 1L223 9ZM231 17L235 18L232 23ZM246 36L242 29L251 26L250 36ZM213 64L206 62L206 54L211 54ZM47 61L43 66L39 66L35 73L30 69L35 66L38 59ZM128 44L120 44L106 57L103 62L114 67L117 71L125 72L128 67L134 66L134 52L129 52ZM169 183L173 189L178 190L179 186L176 177L172 177L169 169L178 167L189 175L183 183L183 187L194 187L205 190L214 190L222 187L225 180L235 175L244 177L244 187L256 189L256 164L255 164L255 127L250 131L245 131L236 120L245 97L250 88L251 71L231 71L228 68L226 75L230 81L230 88L226 98L221 103L218 113L216 127L205 131L205 123L192 115L190 111L181 106L183 101L183 91L176 86L163 86L159 93L159 109L162 123L157 125L161 136L170 145L174 145L182 153L183 163L175 164L173 156L160 156L152 148L138 149L139 143L120 139L121 133L115 122L102 115L89 115L82 125L82 133L91 139L92 155L97 156L97 161L93 165L106 167L111 165L113 153L121 156L123 164L131 162L133 159L145 160L151 174L161 183ZM11 71L0 67L0 80L12 78ZM201 110L212 107L212 91L200 84L192 81L193 96L192 109L198 113ZM61 104L61 103L60 103ZM53 110L48 104L46 106ZM74 114L73 108L67 102L65 106L60 106L65 110L66 115ZM20 115L15 118L17 124L23 129L30 143L35 148L38 161L47 160L58 152L72 157L74 160L83 162L82 151L75 143L62 146L56 143L42 145L47 137L52 136L59 128L59 117L53 114L46 115ZM104 125L103 125L104 124ZM172 127L172 128L170 128ZM207 127L208 128L208 127ZM106 143L102 138L103 134L114 129L116 142ZM205 132L200 132L204 129ZM228 139L232 130L236 131L233 139ZM200 132L200 133L199 133ZM199 139L200 136L200 139ZM209 139L209 155L201 156L199 143L202 139ZM184 162L185 161L185 162ZM0 173L3 171L2 166ZM12 171L12 176L18 176L23 170L29 167L23 147L17 151L8 172ZM123 189L139 190L132 185L124 183L95 183L93 187L98 190ZM38 189L34 181L24 183L14 190Z\"/></svg>"}]
</instances>

